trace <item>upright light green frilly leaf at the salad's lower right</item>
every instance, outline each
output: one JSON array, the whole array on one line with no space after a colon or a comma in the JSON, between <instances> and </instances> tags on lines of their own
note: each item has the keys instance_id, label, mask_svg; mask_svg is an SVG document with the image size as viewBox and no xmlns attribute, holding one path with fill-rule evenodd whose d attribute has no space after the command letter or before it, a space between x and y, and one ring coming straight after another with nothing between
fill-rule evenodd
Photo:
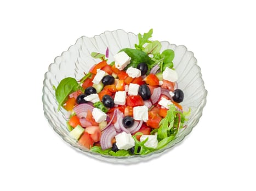
<instances>
[{"instance_id":1,"label":"upright light green frilly leaf at the salad's lower right","mask_svg":"<svg viewBox=\"0 0 256 191\"><path fill-rule=\"evenodd\" d=\"M160 121L160 128L158 129L158 132L157 132L157 138L159 140L167 138L168 136L167 131L169 131L174 124L175 111L176 111L176 108L174 104L170 105L169 110L167 111L166 117L164 117Z\"/></svg>"}]
</instances>

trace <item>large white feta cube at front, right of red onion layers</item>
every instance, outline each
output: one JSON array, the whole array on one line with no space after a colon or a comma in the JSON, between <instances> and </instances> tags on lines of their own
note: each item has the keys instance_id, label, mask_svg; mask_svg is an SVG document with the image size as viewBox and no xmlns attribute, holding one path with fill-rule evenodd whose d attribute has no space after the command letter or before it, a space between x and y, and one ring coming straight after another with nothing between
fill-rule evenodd
<instances>
[{"instance_id":1,"label":"large white feta cube at front, right of red onion layers","mask_svg":"<svg viewBox=\"0 0 256 191\"><path fill-rule=\"evenodd\" d=\"M118 149L128 150L135 145L135 141L130 133L122 132L116 135L116 146Z\"/></svg>"}]
</instances>

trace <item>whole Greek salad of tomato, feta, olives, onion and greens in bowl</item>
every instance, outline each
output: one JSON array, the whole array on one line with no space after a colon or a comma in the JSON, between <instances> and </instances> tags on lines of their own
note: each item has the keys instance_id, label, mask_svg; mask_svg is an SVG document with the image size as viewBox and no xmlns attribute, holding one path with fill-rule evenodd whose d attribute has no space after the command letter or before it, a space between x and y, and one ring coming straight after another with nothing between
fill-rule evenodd
<instances>
[{"instance_id":1,"label":"whole Greek salad of tomato, feta, olives, onion and greens in bowl","mask_svg":"<svg viewBox=\"0 0 256 191\"><path fill-rule=\"evenodd\" d=\"M186 116L173 68L174 51L161 50L149 32L138 34L134 49L124 48L109 63L105 54L84 77L62 79L55 89L58 110L69 111L70 136L88 150L126 157L160 150L186 128Z\"/></svg>"}]
</instances>

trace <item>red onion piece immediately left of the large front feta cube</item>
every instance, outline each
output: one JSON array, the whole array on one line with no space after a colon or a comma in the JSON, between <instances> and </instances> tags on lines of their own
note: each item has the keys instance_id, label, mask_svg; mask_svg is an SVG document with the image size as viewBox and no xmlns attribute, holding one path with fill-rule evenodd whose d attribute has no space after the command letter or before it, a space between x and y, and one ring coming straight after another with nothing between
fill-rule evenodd
<instances>
[{"instance_id":1,"label":"red onion piece immediately left of the large front feta cube","mask_svg":"<svg viewBox=\"0 0 256 191\"><path fill-rule=\"evenodd\" d=\"M115 127L112 125L106 130L104 130L103 134L100 137L100 146L103 150L107 148L111 148L111 140L117 135Z\"/></svg>"}]
</instances>

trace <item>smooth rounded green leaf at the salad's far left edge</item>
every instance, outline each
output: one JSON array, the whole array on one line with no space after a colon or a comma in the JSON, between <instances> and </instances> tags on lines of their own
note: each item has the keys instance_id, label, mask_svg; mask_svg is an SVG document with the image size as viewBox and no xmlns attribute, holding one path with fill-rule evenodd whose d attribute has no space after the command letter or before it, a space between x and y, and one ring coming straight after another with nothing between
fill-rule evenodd
<instances>
[{"instance_id":1,"label":"smooth rounded green leaf at the salad's far left edge","mask_svg":"<svg viewBox=\"0 0 256 191\"><path fill-rule=\"evenodd\" d=\"M56 100L59 103L58 111L60 107L64 104L67 97L70 93L75 92L79 89L79 85L73 77L66 77L65 79L61 80L58 87L55 91Z\"/></svg>"}]
</instances>

